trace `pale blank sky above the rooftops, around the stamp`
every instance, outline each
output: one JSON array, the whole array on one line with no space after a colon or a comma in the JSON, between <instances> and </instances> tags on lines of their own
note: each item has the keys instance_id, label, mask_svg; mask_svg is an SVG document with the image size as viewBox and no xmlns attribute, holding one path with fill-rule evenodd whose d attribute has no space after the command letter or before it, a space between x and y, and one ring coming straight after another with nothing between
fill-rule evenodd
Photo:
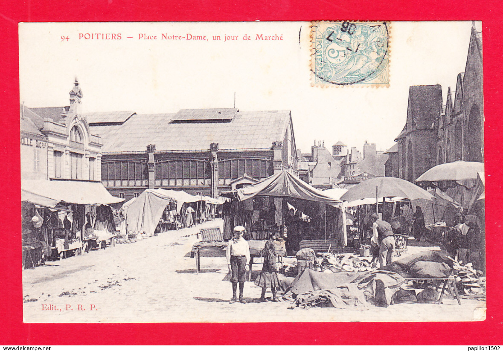
<instances>
[{"instance_id":1,"label":"pale blank sky above the rooftops, around the stamp","mask_svg":"<svg viewBox=\"0 0 503 351\"><path fill-rule=\"evenodd\" d=\"M465 70L470 30L470 21L392 22L389 87L320 88L310 82L308 22L22 23L20 99L67 106L75 77L83 112L231 108L235 94L239 111L290 110L302 152L315 140L386 150L405 124L410 85L441 84L445 104ZM96 33L121 40L85 39Z\"/></svg>"}]
</instances>

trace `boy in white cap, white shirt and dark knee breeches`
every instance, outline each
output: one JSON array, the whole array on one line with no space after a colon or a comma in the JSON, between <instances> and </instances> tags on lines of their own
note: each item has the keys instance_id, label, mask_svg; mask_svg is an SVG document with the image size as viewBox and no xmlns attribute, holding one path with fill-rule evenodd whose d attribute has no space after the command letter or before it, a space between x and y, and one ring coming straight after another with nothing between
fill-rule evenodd
<instances>
[{"instance_id":1,"label":"boy in white cap, white shirt and dark knee breeches","mask_svg":"<svg viewBox=\"0 0 503 351\"><path fill-rule=\"evenodd\" d=\"M248 243L243 238L244 227L238 225L234 227L234 234L229 240L225 256L227 265L231 273L230 282L232 283L232 299L230 303L235 303L237 283L239 283L239 302L246 303L243 297L244 281L246 280L246 264L250 259L250 250Z\"/></svg>"}]
</instances>

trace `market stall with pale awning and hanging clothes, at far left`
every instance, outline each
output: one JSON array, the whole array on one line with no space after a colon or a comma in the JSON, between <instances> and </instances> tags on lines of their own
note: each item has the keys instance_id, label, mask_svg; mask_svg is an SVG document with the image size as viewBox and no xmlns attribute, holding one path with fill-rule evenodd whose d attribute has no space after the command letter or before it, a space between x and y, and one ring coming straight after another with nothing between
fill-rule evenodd
<instances>
[{"instance_id":1,"label":"market stall with pale awning and hanging clothes, at far left","mask_svg":"<svg viewBox=\"0 0 503 351\"><path fill-rule=\"evenodd\" d=\"M88 239L111 239L115 224L113 197L100 182L22 180L23 264L86 249ZM112 240L112 239L111 239Z\"/></svg>"}]
</instances>

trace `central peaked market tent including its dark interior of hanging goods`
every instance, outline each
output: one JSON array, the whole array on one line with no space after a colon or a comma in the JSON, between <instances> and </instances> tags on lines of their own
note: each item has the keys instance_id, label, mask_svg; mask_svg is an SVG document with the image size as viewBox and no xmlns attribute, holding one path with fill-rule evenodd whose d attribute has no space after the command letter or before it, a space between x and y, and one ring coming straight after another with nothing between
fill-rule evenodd
<instances>
[{"instance_id":1,"label":"central peaked market tent including its dark interior of hanging goods","mask_svg":"<svg viewBox=\"0 0 503 351\"><path fill-rule=\"evenodd\" d=\"M230 238L234 225L243 225L253 239L266 239L268 231L283 232L286 226L290 242L315 237L337 245L347 243L342 201L324 195L286 170L223 195L232 199L224 204L224 238ZM288 205L298 210L294 216L290 216ZM299 218L300 212L309 222Z\"/></svg>"}]
</instances>

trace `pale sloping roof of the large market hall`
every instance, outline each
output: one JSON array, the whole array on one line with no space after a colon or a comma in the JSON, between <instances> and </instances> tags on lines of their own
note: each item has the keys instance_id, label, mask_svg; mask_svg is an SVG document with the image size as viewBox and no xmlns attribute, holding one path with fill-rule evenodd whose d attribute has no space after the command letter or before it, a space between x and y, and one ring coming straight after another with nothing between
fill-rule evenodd
<instances>
[{"instance_id":1,"label":"pale sloping roof of the large market hall","mask_svg":"<svg viewBox=\"0 0 503 351\"><path fill-rule=\"evenodd\" d=\"M218 111L224 119L211 121ZM207 150L211 143L218 143L220 150L270 149L274 141L284 139L290 123L288 110L198 109L135 114L120 126L90 128L93 134L100 134L103 152L144 151L149 144L155 144L157 150Z\"/></svg>"}]
</instances>

